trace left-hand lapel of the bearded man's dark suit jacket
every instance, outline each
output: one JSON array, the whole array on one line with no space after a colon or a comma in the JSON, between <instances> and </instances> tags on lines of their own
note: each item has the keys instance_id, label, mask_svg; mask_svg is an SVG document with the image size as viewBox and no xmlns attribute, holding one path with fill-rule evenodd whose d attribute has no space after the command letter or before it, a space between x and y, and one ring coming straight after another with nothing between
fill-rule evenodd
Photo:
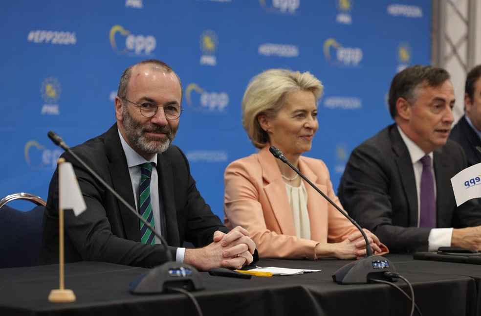
<instances>
[{"instance_id":1,"label":"left-hand lapel of the bearded man's dark suit jacket","mask_svg":"<svg viewBox=\"0 0 481 316\"><path fill-rule=\"evenodd\" d=\"M127 166L127 158L120 143L117 124L114 124L105 136L105 148L109 159L109 172L114 190L135 209L132 182ZM139 220L131 211L117 200L120 216L127 239L140 241Z\"/></svg>"}]
</instances>

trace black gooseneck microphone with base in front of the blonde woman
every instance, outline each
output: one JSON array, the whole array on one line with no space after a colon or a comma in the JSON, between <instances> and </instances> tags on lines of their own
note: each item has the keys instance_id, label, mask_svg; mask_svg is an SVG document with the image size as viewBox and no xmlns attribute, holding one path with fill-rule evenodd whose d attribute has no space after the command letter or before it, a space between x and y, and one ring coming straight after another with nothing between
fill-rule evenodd
<instances>
[{"instance_id":1,"label":"black gooseneck microphone with base in front of the blonde woman","mask_svg":"<svg viewBox=\"0 0 481 316\"><path fill-rule=\"evenodd\" d=\"M332 275L332 279L334 282L338 284L365 284L369 283L369 280L375 277L381 277L383 279L388 278L388 280L393 281L391 277L385 275L384 272L390 271L395 272L394 265L386 258L378 255L372 254L372 248L369 244L368 237L364 230L351 218L348 213L342 210L336 203L334 203L329 197L324 194L319 188L312 183L309 179L306 178L304 174L302 174L294 165L285 158L284 154L279 148L274 146L270 146L269 151L275 157L280 159L282 162L287 164L292 170L294 170L302 179L304 179L310 186L314 188L320 195L323 196L332 206L334 206L342 215L344 215L352 225L356 226L357 229L361 232L364 241L366 242L366 257L364 259L353 261L344 267L340 268Z\"/></svg>"}]
</instances>

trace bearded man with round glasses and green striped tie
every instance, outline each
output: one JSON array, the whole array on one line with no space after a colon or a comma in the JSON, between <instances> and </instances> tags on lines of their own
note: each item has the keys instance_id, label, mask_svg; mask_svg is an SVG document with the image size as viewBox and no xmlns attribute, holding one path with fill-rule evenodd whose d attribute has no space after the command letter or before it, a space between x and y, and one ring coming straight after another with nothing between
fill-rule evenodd
<instances>
[{"instance_id":1,"label":"bearded man with round glasses and green striped tie","mask_svg":"<svg viewBox=\"0 0 481 316\"><path fill-rule=\"evenodd\" d=\"M253 262L255 244L242 227L229 231L215 216L172 145L179 126L182 88L167 64L146 60L127 68L115 98L116 123L72 150L162 234L171 257L200 270L240 268ZM65 260L153 267L169 258L153 232L68 153L87 204L65 214ZM58 174L50 182L41 261L58 261ZM194 249L182 248L184 241ZM257 253L256 253L257 255Z\"/></svg>"}]
</instances>

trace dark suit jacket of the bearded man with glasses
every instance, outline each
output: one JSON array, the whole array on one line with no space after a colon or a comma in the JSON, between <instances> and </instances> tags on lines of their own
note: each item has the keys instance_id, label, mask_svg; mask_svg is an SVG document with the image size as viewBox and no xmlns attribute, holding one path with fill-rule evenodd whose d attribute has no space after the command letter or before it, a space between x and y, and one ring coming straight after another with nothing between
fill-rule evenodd
<instances>
[{"instance_id":1,"label":"dark suit jacket of the bearded man with glasses","mask_svg":"<svg viewBox=\"0 0 481 316\"><path fill-rule=\"evenodd\" d=\"M98 137L72 148L89 167L135 208L132 184L117 125ZM70 154L87 210L78 217L65 212L65 261L105 261L153 267L168 260L161 245L140 242L139 220ZM184 241L196 247L212 242L216 230L228 232L196 188L187 158L176 146L158 155L157 173L161 205L165 213L167 239L175 260ZM58 263L58 170L50 182L44 213L42 263Z\"/></svg>"}]
</instances>

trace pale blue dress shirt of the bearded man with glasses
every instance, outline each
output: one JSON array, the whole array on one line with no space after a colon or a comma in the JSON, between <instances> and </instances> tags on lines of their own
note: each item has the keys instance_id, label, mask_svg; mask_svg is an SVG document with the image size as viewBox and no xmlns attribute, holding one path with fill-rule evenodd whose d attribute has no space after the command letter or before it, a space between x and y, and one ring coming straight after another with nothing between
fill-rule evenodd
<instances>
[{"instance_id":1,"label":"pale blue dress shirt of the bearded man with glasses","mask_svg":"<svg viewBox=\"0 0 481 316\"><path fill-rule=\"evenodd\" d=\"M140 178L142 173L140 171L140 165L145 162L153 162L154 165L157 165L157 154L155 154L149 161L145 160L142 156L140 156L132 147L127 143L124 139L122 134L119 132L120 142L122 143L122 148L124 149L125 158L127 158L127 166L129 167L129 174L132 183L132 191L133 191L133 198L135 199L135 206L137 206L137 198L139 196L139 185L140 185ZM152 204L152 211L153 211L153 221L155 223L155 232L159 235L161 234L160 231L160 205L159 205L159 181L157 175L157 169L152 168L152 175L151 175L151 204ZM138 209L136 207L136 209ZM140 227L139 227L140 229ZM161 244L162 241L155 236L155 244ZM185 248L177 248L175 261L183 262L184 261L184 254Z\"/></svg>"}]
</instances>

